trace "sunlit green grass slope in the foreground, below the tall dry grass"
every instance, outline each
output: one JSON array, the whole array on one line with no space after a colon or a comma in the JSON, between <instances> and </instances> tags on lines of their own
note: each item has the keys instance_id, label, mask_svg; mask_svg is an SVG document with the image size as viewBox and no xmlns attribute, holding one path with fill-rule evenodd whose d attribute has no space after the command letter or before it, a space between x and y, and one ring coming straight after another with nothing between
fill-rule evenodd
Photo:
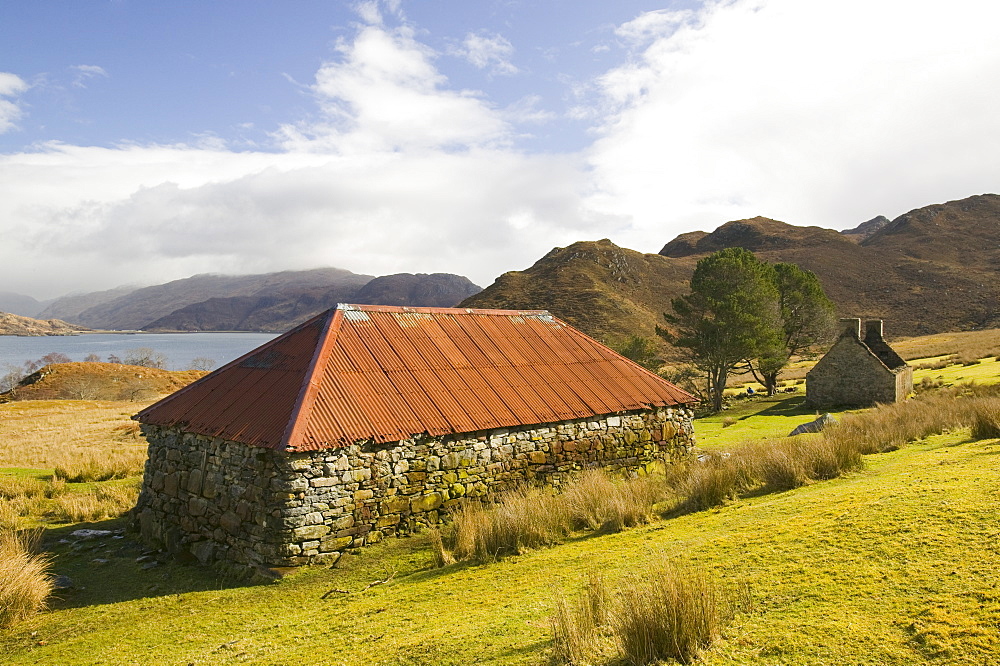
<instances>
[{"instance_id":1,"label":"sunlit green grass slope in the foreground, below the tall dry grass","mask_svg":"<svg viewBox=\"0 0 1000 666\"><path fill-rule=\"evenodd\" d=\"M0 653L11 664L539 664L553 588L575 592L589 571L614 583L668 556L753 590L706 665L990 663L998 454L998 440L968 431L935 436L847 477L486 566L433 568L417 536L358 551L346 568L231 586L207 569L143 570L128 540L54 544L55 571L84 589Z\"/></svg>"}]
</instances>

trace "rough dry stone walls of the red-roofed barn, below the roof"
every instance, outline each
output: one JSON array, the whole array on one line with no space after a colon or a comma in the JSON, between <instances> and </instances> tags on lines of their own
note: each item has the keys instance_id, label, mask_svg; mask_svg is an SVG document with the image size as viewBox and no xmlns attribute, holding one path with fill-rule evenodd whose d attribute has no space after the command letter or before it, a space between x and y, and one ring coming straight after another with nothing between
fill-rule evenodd
<instances>
[{"instance_id":1,"label":"rough dry stone walls of the red-roofed barn, below the roof","mask_svg":"<svg viewBox=\"0 0 1000 666\"><path fill-rule=\"evenodd\" d=\"M558 488L585 468L635 473L684 457L692 417L661 408L291 454L144 425L149 460L134 516L147 541L205 563L333 563L519 484Z\"/></svg>"}]
</instances>

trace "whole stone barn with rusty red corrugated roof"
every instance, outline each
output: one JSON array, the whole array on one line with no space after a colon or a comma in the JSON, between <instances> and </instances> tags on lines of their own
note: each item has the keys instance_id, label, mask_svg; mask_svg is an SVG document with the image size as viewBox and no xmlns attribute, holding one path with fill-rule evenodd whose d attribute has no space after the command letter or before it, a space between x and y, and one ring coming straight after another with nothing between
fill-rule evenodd
<instances>
[{"instance_id":1,"label":"whole stone barn with rusty red corrugated roof","mask_svg":"<svg viewBox=\"0 0 1000 666\"><path fill-rule=\"evenodd\" d=\"M691 395L544 311L340 305L144 409L143 538L331 563L463 501L693 446Z\"/></svg>"}]
</instances>

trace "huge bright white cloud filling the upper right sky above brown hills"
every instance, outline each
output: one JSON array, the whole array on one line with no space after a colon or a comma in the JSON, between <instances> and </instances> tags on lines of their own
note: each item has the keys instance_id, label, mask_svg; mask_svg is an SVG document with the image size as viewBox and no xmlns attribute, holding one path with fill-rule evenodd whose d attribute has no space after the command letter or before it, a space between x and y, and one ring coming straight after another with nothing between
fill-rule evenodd
<instances>
[{"instance_id":1,"label":"huge bright white cloud filling the upper right sky above brown hills","mask_svg":"<svg viewBox=\"0 0 1000 666\"><path fill-rule=\"evenodd\" d=\"M997 191L1000 5L709 2L618 34L631 61L600 80L589 203L618 240L766 215L853 226Z\"/></svg>"}]
</instances>

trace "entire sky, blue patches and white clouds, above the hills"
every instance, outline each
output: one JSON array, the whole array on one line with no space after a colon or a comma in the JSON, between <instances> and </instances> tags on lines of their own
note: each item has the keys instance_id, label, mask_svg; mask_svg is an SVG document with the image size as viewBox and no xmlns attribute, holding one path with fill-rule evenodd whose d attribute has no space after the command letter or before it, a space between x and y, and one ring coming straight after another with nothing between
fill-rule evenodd
<instances>
[{"instance_id":1,"label":"entire sky, blue patches and white clouds, above the hills","mask_svg":"<svg viewBox=\"0 0 1000 666\"><path fill-rule=\"evenodd\" d=\"M50 298L339 266L486 286L998 190L986 0L0 9L0 276Z\"/></svg>"}]
</instances>

